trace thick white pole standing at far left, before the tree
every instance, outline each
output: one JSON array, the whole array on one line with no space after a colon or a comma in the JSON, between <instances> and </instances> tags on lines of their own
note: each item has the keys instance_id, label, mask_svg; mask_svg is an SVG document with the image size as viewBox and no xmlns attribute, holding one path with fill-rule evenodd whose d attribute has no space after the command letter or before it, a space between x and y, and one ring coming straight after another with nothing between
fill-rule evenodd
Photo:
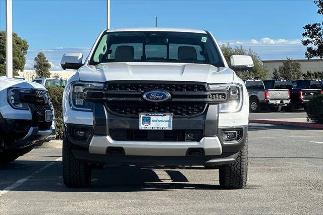
<instances>
[{"instance_id":1,"label":"thick white pole standing at far left, before the tree","mask_svg":"<svg viewBox=\"0 0 323 215\"><path fill-rule=\"evenodd\" d=\"M12 78L12 0L6 0L6 76Z\"/></svg>"}]
</instances>

